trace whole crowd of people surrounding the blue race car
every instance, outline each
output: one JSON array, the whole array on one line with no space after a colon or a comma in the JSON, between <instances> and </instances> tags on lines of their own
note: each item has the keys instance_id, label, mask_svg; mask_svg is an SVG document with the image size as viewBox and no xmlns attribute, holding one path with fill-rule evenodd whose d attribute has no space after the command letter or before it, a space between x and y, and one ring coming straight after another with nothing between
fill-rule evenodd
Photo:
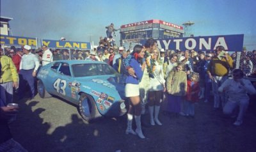
<instances>
[{"instance_id":1,"label":"whole crowd of people surrounding the blue race car","mask_svg":"<svg viewBox=\"0 0 256 152\"><path fill-rule=\"evenodd\" d=\"M93 50L48 49L45 45L42 49L33 50L29 45L24 45L17 49L1 49L0 57L1 125L5 122L5 127L6 113L17 112L17 109L6 108L8 103L13 102L13 88L14 91L19 88L20 100L28 84L29 100L33 99L36 93L36 71L40 65L62 59L106 62L126 77L125 96L129 98L130 105L125 133L138 135L141 139L145 139L141 123L145 123L143 115L146 109L150 115L147 123L152 126L163 125L159 119L160 109L172 118L180 115L194 118L195 103L200 100L209 102L212 91L214 109L221 108L224 114L232 116L235 114L237 118L234 125L239 126L248 108L247 94L256 93L252 83L243 79L244 75L256 73L256 50L246 52L244 49L237 61L237 54L229 55L223 46L207 53L164 50L158 49L156 40L152 38L143 46L135 45L132 50L126 50L125 47L116 47L110 34L109 38L100 37L99 47ZM228 78L230 74L232 79ZM236 107L239 107L237 113L234 110ZM135 131L132 129L133 118ZM5 135L6 139L12 139L10 133Z\"/></svg>"}]
</instances>

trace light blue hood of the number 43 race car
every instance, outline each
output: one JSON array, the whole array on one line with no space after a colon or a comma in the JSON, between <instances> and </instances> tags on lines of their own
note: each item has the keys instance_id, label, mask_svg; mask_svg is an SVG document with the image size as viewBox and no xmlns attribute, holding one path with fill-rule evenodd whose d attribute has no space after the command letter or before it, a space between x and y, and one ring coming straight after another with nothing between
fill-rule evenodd
<instances>
[{"instance_id":1,"label":"light blue hood of the number 43 race car","mask_svg":"<svg viewBox=\"0 0 256 152\"><path fill-rule=\"evenodd\" d=\"M81 90L90 90L91 95L112 96L116 100L125 99L125 79L120 75L100 75L86 78L79 78L81 82ZM118 99L118 97L120 99Z\"/></svg>"}]
</instances>

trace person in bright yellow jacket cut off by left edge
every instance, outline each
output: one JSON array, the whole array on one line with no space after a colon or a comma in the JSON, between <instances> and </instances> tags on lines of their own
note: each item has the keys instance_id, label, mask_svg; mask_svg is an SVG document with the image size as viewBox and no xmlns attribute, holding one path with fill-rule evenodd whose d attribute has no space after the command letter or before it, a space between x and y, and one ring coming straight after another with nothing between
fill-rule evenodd
<instances>
[{"instance_id":1,"label":"person in bright yellow jacket cut off by left edge","mask_svg":"<svg viewBox=\"0 0 256 152\"><path fill-rule=\"evenodd\" d=\"M3 50L0 48L0 98L4 105L13 102L13 87L19 86L19 76L12 58L3 56Z\"/></svg>"}]
</instances>

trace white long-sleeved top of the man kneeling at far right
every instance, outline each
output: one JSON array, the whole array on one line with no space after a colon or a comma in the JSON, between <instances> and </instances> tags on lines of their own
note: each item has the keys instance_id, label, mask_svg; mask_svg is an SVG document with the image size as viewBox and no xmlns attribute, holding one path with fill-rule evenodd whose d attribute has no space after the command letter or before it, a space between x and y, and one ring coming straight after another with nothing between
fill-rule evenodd
<instances>
[{"instance_id":1,"label":"white long-sleeved top of the man kneeling at far right","mask_svg":"<svg viewBox=\"0 0 256 152\"><path fill-rule=\"evenodd\" d=\"M239 102L241 98L249 100L247 93L255 94L256 90L250 80L241 79L241 81L243 81L244 86L241 82L236 82L234 79L227 79L221 84L218 91L225 91L228 95L228 101L230 102Z\"/></svg>"}]
</instances>

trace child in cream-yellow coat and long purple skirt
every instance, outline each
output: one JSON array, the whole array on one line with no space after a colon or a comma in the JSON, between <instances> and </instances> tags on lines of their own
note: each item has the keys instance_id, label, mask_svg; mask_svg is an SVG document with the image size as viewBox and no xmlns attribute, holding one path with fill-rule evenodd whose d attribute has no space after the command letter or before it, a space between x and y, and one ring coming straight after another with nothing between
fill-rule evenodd
<instances>
[{"instance_id":1,"label":"child in cream-yellow coat and long purple skirt","mask_svg":"<svg viewBox=\"0 0 256 152\"><path fill-rule=\"evenodd\" d=\"M168 112L174 112L175 116L178 116L181 110L182 97L186 95L187 90L187 74L182 71L183 67L184 65L179 63L166 78Z\"/></svg>"}]
</instances>

